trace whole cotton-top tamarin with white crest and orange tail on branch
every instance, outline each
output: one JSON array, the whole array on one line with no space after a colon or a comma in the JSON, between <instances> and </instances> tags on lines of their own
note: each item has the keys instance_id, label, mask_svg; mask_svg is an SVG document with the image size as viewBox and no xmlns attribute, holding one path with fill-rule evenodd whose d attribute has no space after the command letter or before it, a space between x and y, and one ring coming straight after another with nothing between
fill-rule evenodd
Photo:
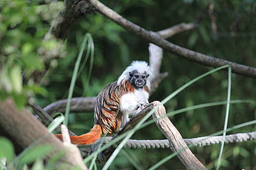
<instances>
[{"instance_id":1,"label":"whole cotton-top tamarin with white crest and orange tail on branch","mask_svg":"<svg viewBox=\"0 0 256 170\"><path fill-rule=\"evenodd\" d=\"M71 143L89 145L102 134L115 134L129 121L129 116L148 105L152 73L144 61L134 61L120 75L116 82L106 85L97 95L94 106L94 126L81 136L70 136ZM56 136L62 139L61 134Z\"/></svg>"}]
</instances>

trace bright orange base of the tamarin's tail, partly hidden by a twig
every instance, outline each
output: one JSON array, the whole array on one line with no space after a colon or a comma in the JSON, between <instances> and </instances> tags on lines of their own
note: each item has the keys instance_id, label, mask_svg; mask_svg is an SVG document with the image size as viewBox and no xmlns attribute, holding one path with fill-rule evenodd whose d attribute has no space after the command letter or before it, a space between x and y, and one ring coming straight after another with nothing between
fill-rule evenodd
<instances>
[{"instance_id":1,"label":"bright orange base of the tamarin's tail, partly hidden by a twig","mask_svg":"<svg viewBox=\"0 0 256 170\"><path fill-rule=\"evenodd\" d=\"M56 134L62 140L62 134ZM102 136L102 127L94 125L90 132L82 134L81 136L70 136L71 143L75 145L90 145L95 143Z\"/></svg>"}]
</instances>

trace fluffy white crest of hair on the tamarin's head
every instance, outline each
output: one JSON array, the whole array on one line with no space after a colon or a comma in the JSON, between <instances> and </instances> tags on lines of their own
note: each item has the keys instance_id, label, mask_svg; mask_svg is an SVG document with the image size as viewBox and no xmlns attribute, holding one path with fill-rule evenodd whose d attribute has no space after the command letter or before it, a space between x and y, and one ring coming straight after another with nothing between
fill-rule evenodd
<instances>
[{"instance_id":1,"label":"fluffy white crest of hair on the tamarin's head","mask_svg":"<svg viewBox=\"0 0 256 170\"><path fill-rule=\"evenodd\" d=\"M148 63L145 61L133 61L130 66L126 68L126 70L120 75L120 77L117 80L117 84L119 85L122 80L128 80L129 78L129 72L137 70L138 73L144 73L145 71L150 75L147 80L146 86L150 88L150 82L153 78L152 72L150 71L150 66L148 66Z\"/></svg>"}]
</instances>

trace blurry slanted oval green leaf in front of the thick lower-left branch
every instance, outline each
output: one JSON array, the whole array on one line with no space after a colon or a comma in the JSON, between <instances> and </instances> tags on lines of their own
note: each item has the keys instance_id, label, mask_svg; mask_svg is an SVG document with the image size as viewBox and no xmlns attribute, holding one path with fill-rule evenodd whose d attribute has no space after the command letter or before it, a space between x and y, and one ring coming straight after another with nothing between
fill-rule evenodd
<instances>
[{"instance_id":1,"label":"blurry slanted oval green leaf in front of the thick lower-left branch","mask_svg":"<svg viewBox=\"0 0 256 170\"><path fill-rule=\"evenodd\" d=\"M46 154L49 154L52 146L49 144L37 145L33 147L27 153L25 153L19 160L20 164L30 164L34 162L37 158L43 158Z\"/></svg>"}]
</instances>

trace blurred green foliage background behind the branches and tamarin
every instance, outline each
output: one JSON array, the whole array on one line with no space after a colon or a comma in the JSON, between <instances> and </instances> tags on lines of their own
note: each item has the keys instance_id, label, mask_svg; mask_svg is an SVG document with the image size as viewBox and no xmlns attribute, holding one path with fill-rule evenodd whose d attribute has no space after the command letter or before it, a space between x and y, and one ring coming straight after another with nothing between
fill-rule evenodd
<instances>
[{"instance_id":1,"label":"blurred green foliage background behind the branches and tamarin","mask_svg":"<svg viewBox=\"0 0 256 170\"><path fill-rule=\"evenodd\" d=\"M95 59L93 72L88 82L89 62L75 84L73 97L91 97L108 83L117 80L132 60L148 61L148 42L126 31L97 12L78 19L72 26L58 60L51 61L39 86L28 80L21 86L21 77L28 77L34 69L43 69L43 60L38 57L38 48L49 30L51 21L62 2L38 5L38 1L0 1L0 98L12 95L18 106L27 100L41 107L59 99L67 98L75 60L86 33L93 36ZM216 56L248 66L256 66L256 1L102 1L126 19L151 31L159 31L178 23L198 22L198 27L167 39L209 56ZM209 3L214 5L217 36L213 33L209 16ZM46 46L54 47L54 42ZM161 101L189 80L213 68L185 60L172 53L163 53L161 71L169 75L159 84L150 101ZM23 72L22 72L23 71ZM183 90L165 108L167 112L196 104L223 101L227 92L227 72L219 71ZM231 99L255 100L256 80L241 75L232 75ZM171 121L183 138L207 136L222 130L226 106L192 110L171 117ZM255 105L231 104L228 127L255 120ZM70 114L69 127L82 134L93 126L93 112ZM256 126L234 130L253 132ZM155 124L136 132L132 138L163 139ZM125 149L142 169L148 169L170 155L170 149ZM191 151L209 169L215 169L220 145L192 147ZM256 143L233 143L224 145L221 169L256 169ZM99 165L100 169L102 165ZM119 154L110 169L135 169L131 162ZM184 169L178 158L169 160L159 169Z\"/></svg>"}]
</instances>

